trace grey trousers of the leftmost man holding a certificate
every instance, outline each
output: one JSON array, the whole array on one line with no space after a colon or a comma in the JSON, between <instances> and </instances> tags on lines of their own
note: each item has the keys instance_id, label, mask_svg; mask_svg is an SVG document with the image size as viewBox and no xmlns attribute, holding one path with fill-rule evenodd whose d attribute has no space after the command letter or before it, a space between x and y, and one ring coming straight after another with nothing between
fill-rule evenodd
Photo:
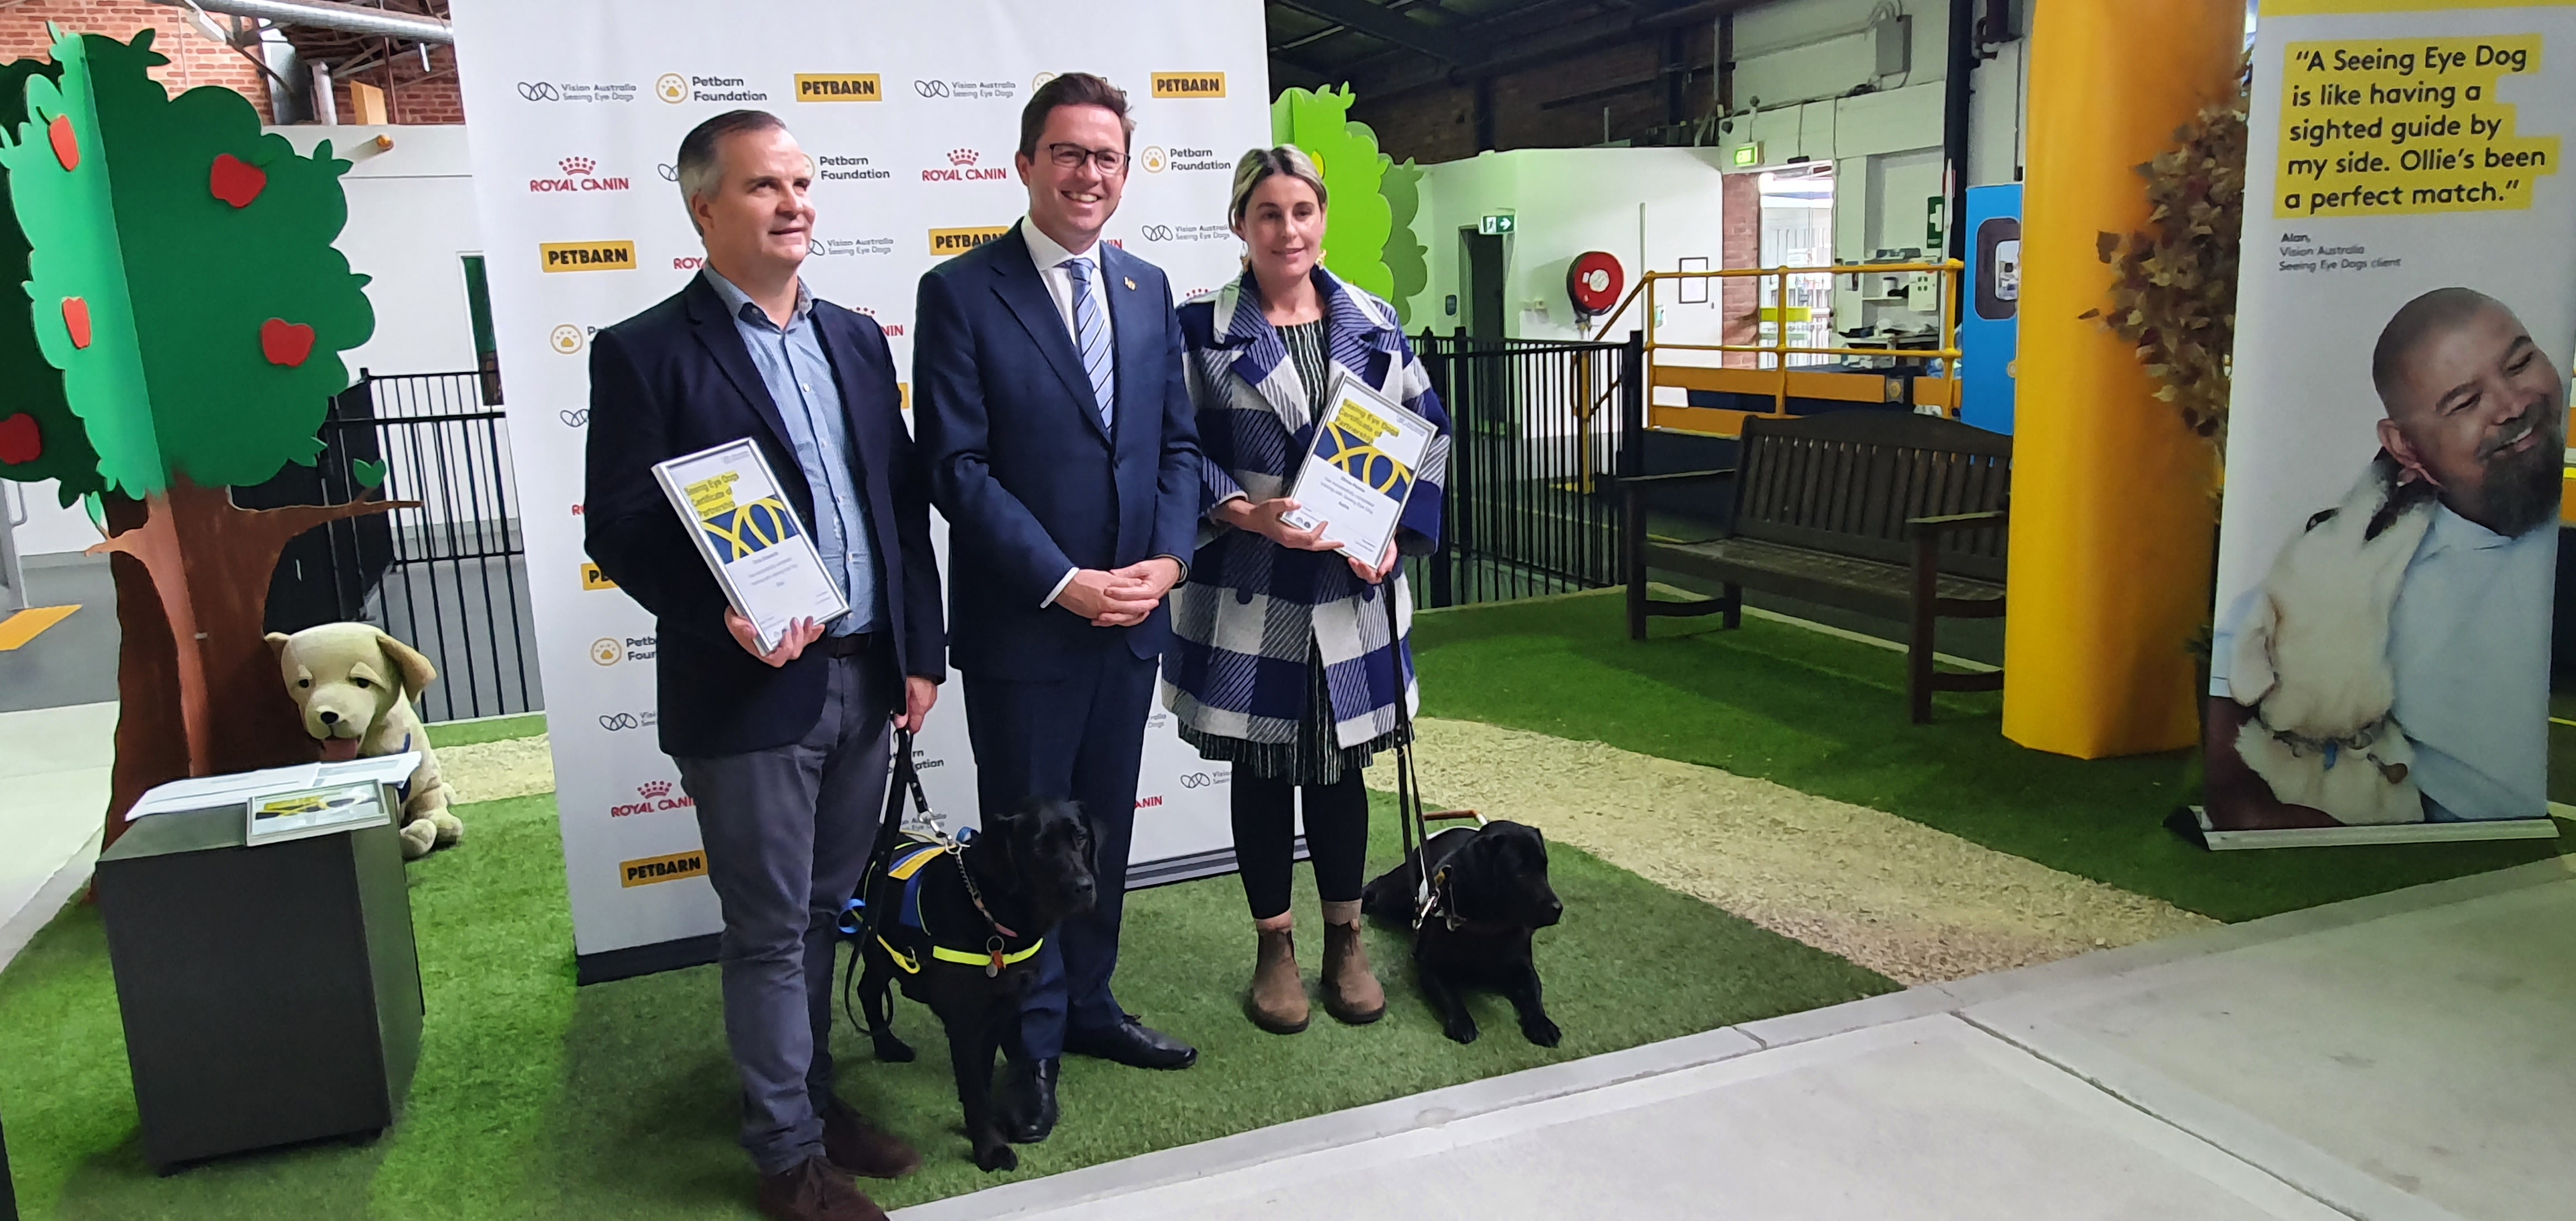
<instances>
[{"instance_id":1,"label":"grey trousers of the leftmost man holding a certificate","mask_svg":"<svg viewBox=\"0 0 2576 1221\"><path fill-rule=\"evenodd\" d=\"M886 649L832 657L804 739L683 757L706 876L724 904L724 1041L742 1074L742 1146L762 1175L822 1157L832 1105L832 948L884 814L902 683Z\"/></svg>"}]
</instances>

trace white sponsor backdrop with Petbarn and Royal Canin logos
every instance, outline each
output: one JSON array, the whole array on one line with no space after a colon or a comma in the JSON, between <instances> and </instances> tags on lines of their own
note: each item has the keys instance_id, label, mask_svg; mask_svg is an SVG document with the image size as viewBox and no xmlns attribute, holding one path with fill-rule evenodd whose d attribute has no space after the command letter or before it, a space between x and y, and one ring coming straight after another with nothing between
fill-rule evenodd
<instances>
[{"instance_id":1,"label":"white sponsor backdrop with Petbarn and Royal Canin logos","mask_svg":"<svg viewBox=\"0 0 2576 1221\"><path fill-rule=\"evenodd\" d=\"M1229 167L1270 134L1262 8L456 0L453 18L574 940L587 956L716 932L696 817L654 744L652 616L582 580L590 332L680 291L703 252L670 180L680 137L732 108L786 118L817 157L806 283L873 314L909 379L914 283L971 242L943 229L1025 211L1020 106L1054 72L1100 72L1133 106L1139 162L1108 237L1162 265L1182 296L1234 276ZM577 250L554 263L574 270L549 270L549 245ZM933 804L951 824L974 822L956 683L920 747ZM1224 783L1157 708L1133 863L1229 847ZM672 863L629 868L662 858Z\"/></svg>"}]
</instances>

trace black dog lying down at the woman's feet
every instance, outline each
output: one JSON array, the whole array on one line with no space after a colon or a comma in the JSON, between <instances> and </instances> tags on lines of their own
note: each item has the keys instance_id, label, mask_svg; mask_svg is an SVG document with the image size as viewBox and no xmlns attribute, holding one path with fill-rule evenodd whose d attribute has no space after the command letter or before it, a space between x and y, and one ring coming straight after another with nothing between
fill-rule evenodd
<instances>
[{"instance_id":1,"label":"black dog lying down at the woman's feet","mask_svg":"<svg viewBox=\"0 0 2576 1221\"><path fill-rule=\"evenodd\" d=\"M1430 860L1432 912L1414 930L1414 974L1440 1010L1443 1030L1476 1041L1461 987L1497 989L1520 1012L1520 1033L1553 1048L1564 1030L1538 997L1530 932L1553 925L1566 904L1548 886L1548 840L1538 827L1486 822L1432 835L1419 853ZM1363 909L1386 922L1412 922L1422 871L1404 860L1360 891Z\"/></svg>"}]
</instances>

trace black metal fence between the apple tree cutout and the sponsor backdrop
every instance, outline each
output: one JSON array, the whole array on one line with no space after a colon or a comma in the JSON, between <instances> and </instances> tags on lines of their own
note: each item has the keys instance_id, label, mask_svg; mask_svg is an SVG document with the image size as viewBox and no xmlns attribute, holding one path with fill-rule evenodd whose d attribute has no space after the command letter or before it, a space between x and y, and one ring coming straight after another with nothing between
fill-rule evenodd
<instances>
[{"instance_id":1,"label":"black metal fence between the apple tree cutout and the sponsor backdrop","mask_svg":"<svg viewBox=\"0 0 2576 1221\"><path fill-rule=\"evenodd\" d=\"M374 376L332 399L322 459L289 466L245 507L340 502L381 477L386 500L417 500L309 531L286 546L268 629L368 621L438 665L422 721L544 708L533 665L526 546L510 487L510 435L482 374Z\"/></svg>"}]
</instances>

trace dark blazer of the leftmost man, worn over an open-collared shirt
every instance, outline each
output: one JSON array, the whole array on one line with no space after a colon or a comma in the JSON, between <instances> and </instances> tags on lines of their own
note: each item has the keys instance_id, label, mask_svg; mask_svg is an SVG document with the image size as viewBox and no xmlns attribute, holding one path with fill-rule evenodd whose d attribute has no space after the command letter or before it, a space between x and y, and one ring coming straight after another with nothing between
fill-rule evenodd
<instances>
[{"instance_id":1,"label":"dark blazer of the leftmost man, worn over an open-collared shirt","mask_svg":"<svg viewBox=\"0 0 2576 1221\"><path fill-rule=\"evenodd\" d=\"M940 569L930 551L930 489L904 433L894 353L873 319L814 301L824 355L840 381L868 497L876 577L894 659L943 680ZM590 345L590 469L582 531L600 574L654 613L665 755L742 755L796 742L822 716L824 659L770 670L724 631L724 590L652 477L652 464L752 438L770 459L799 520L814 489L742 332L706 278L618 322Z\"/></svg>"}]
</instances>

